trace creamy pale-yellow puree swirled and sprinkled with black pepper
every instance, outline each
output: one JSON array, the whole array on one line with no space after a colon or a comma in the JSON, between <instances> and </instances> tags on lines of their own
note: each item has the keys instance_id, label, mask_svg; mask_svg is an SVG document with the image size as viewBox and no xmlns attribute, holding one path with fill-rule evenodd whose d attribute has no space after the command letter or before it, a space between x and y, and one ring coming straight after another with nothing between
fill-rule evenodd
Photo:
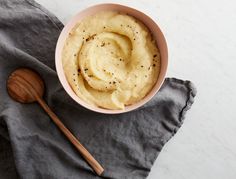
<instances>
[{"instance_id":1,"label":"creamy pale-yellow puree swirled and sprinkled with black pepper","mask_svg":"<svg viewBox=\"0 0 236 179\"><path fill-rule=\"evenodd\" d=\"M137 19L114 11L79 22L62 52L66 78L85 102L123 109L152 89L160 54L149 30Z\"/></svg>"}]
</instances>

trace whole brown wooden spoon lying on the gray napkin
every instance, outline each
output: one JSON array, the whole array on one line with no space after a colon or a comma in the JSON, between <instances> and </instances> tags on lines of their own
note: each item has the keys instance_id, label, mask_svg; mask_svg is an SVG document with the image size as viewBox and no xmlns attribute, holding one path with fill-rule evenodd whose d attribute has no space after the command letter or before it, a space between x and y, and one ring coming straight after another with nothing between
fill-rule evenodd
<instances>
[{"instance_id":1,"label":"whole brown wooden spoon lying on the gray napkin","mask_svg":"<svg viewBox=\"0 0 236 179\"><path fill-rule=\"evenodd\" d=\"M21 103L38 102L52 121L65 134L69 141L81 153L84 159L90 164L93 170L101 175L104 171L102 166L83 147L76 137L64 126L60 119L52 112L49 106L42 99L44 93L44 83L41 77L34 71L27 68L20 68L14 71L8 78L7 90L9 95Z\"/></svg>"}]
</instances>

